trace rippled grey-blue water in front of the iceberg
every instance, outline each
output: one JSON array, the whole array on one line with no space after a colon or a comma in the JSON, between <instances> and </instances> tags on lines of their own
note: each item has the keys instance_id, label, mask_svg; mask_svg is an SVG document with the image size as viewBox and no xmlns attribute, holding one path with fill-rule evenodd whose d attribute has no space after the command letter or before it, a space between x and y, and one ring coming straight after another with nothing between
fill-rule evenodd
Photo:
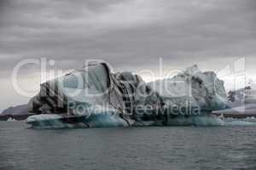
<instances>
[{"instance_id":1,"label":"rippled grey-blue water in front of the iceberg","mask_svg":"<svg viewBox=\"0 0 256 170\"><path fill-rule=\"evenodd\" d=\"M256 169L256 126L32 129L0 122L0 169Z\"/></svg>"}]
</instances>

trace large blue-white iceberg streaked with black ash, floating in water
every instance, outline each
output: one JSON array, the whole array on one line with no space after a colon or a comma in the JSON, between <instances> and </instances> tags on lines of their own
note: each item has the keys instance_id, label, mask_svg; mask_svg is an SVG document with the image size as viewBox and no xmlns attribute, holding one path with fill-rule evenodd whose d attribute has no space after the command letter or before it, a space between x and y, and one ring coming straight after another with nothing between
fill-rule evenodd
<instances>
[{"instance_id":1,"label":"large blue-white iceberg streaked with black ash, floating in water","mask_svg":"<svg viewBox=\"0 0 256 170\"><path fill-rule=\"evenodd\" d=\"M228 105L224 82L196 65L172 79L145 83L131 72L113 73L106 63L90 63L41 84L28 104L34 115L26 122L32 127L201 125L212 123L211 111Z\"/></svg>"}]
</instances>

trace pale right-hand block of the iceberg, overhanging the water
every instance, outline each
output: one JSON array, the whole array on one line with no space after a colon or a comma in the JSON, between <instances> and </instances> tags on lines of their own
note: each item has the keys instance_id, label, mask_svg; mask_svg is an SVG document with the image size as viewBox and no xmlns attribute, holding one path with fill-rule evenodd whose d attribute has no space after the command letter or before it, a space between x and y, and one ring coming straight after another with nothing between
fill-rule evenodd
<instances>
[{"instance_id":1,"label":"pale right-hand block of the iceberg, overhanging the water","mask_svg":"<svg viewBox=\"0 0 256 170\"><path fill-rule=\"evenodd\" d=\"M197 65L148 85L160 94L167 107L198 107L208 112L229 107L224 82L212 71L201 72Z\"/></svg>"}]
</instances>

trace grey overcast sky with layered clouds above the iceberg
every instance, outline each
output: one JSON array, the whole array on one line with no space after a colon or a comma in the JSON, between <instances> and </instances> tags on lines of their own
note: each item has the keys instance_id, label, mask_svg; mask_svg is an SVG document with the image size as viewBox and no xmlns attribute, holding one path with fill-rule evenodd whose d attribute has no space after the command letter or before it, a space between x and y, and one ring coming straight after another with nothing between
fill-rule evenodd
<instances>
[{"instance_id":1,"label":"grey overcast sky with layered clouds above the iceberg","mask_svg":"<svg viewBox=\"0 0 256 170\"><path fill-rule=\"evenodd\" d=\"M22 59L55 59L71 69L84 59L107 60L116 71L197 64L219 71L242 56L256 71L255 0L0 0L0 111L28 98L10 81ZM38 90L38 68L20 84Z\"/></svg>"}]
</instances>

